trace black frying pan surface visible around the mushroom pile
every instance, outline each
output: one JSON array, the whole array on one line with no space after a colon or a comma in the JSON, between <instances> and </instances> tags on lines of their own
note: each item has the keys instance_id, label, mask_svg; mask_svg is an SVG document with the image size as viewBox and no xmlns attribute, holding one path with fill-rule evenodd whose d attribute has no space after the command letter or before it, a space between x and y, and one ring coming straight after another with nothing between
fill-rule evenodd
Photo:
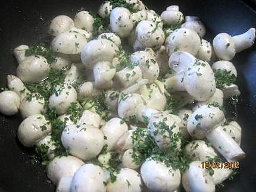
<instances>
[{"instance_id":1,"label":"black frying pan surface visible around the mushroom pile","mask_svg":"<svg viewBox=\"0 0 256 192\"><path fill-rule=\"evenodd\" d=\"M198 15L207 26L206 39L220 32L239 34L256 27L256 12L239 0L143 0L149 8L161 13L168 5L180 5L185 15ZM247 2L252 7L253 2ZM26 43L42 42L49 37L49 21L56 15L74 16L74 10L85 7L96 12L100 0L0 0L0 84L15 74L17 63L12 49ZM241 162L241 174L234 182L225 182L223 191L256 191L256 46L233 59L238 69L241 101L238 122L242 125L242 149L247 157ZM29 154L16 138L21 118L0 117L0 191L54 191L42 166L33 166ZM2 189L1 189L2 188ZM121 192L121 191L120 191Z\"/></svg>"}]
</instances>

